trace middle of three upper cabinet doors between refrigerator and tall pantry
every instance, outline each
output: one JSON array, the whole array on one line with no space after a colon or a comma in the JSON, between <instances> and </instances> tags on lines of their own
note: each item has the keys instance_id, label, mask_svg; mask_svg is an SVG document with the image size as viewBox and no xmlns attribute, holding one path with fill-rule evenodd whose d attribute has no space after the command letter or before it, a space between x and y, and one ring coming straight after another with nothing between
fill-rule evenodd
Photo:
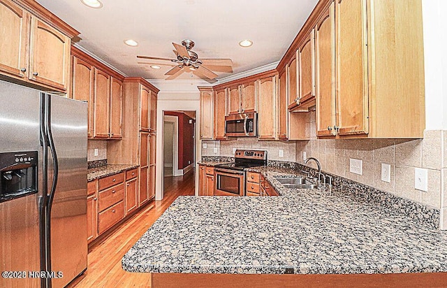
<instances>
[{"instance_id":1,"label":"middle of three upper cabinet doors between refrigerator and tall pantry","mask_svg":"<svg viewBox=\"0 0 447 288\"><path fill-rule=\"evenodd\" d=\"M94 138L109 137L110 75L95 68Z\"/></svg>"}]
</instances>

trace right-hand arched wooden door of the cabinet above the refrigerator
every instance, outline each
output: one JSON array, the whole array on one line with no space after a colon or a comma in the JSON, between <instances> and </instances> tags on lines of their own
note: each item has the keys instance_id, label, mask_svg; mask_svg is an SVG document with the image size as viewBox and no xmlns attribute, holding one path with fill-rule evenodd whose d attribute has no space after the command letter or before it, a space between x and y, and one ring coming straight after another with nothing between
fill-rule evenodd
<instances>
[{"instance_id":1,"label":"right-hand arched wooden door of the cabinet above the refrigerator","mask_svg":"<svg viewBox=\"0 0 447 288\"><path fill-rule=\"evenodd\" d=\"M70 74L70 38L31 17L31 39L29 79L66 91Z\"/></svg>"}]
</instances>

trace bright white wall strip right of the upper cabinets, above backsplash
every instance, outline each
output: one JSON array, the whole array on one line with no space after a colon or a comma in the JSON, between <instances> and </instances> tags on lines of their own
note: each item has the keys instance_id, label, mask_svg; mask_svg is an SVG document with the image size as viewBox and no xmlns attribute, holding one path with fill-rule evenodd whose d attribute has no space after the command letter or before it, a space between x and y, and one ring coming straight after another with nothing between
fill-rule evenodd
<instances>
[{"instance_id":1,"label":"bright white wall strip right of the upper cabinets, above backsplash","mask_svg":"<svg viewBox=\"0 0 447 288\"><path fill-rule=\"evenodd\" d=\"M447 129L446 0L423 0L425 128Z\"/></svg>"}]
</instances>

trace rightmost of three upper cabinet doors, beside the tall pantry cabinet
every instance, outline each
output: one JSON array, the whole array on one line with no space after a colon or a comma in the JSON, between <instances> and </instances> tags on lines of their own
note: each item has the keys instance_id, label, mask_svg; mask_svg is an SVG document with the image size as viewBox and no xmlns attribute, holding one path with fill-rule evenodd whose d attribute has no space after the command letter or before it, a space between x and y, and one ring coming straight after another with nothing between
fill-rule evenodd
<instances>
[{"instance_id":1,"label":"rightmost of three upper cabinet doors, beside the tall pantry cabinet","mask_svg":"<svg viewBox=\"0 0 447 288\"><path fill-rule=\"evenodd\" d=\"M123 82L110 80L110 138L122 138L123 123Z\"/></svg>"}]
</instances>

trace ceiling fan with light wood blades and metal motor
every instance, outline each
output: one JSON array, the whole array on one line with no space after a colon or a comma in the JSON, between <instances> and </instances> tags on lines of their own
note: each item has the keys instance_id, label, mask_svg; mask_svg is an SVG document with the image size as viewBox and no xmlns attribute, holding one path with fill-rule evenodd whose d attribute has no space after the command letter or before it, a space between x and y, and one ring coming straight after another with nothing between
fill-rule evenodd
<instances>
[{"instance_id":1,"label":"ceiling fan with light wood blades and metal motor","mask_svg":"<svg viewBox=\"0 0 447 288\"><path fill-rule=\"evenodd\" d=\"M175 75L184 69L190 69L193 73L197 73L200 78L215 79L217 74L212 70L222 70L225 72L233 72L233 61L231 59L199 59L196 52L191 49L194 47L194 41L184 40L182 45L173 43L177 59L168 59L161 57L137 56L140 59L154 59L175 62L176 66L165 75Z\"/></svg>"}]
</instances>

